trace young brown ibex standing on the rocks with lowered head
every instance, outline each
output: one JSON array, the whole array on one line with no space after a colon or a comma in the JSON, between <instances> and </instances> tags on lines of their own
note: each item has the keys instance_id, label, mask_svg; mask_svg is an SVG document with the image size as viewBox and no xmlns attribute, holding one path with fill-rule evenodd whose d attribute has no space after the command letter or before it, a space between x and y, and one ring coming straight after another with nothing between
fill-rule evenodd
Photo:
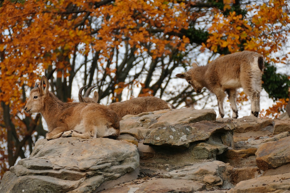
<instances>
[{"instance_id":1,"label":"young brown ibex standing on the rocks with lowered head","mask_svg":"<svg viewBox=\"0 0 290 193\"><path fill-rule=\"evenodd\" d=\"M193 63L189 71L176 76L185 78L196 93L200 93L204 87L214 93L219 105L218 118L224 117L225 92L229 95L232 117L238 118L236 89L242 87L251 100L251 115L258 117L263 71L264 58L261 54L242 51L222 56L206 66L197 66Z\"/></svg>"}]
</instances>

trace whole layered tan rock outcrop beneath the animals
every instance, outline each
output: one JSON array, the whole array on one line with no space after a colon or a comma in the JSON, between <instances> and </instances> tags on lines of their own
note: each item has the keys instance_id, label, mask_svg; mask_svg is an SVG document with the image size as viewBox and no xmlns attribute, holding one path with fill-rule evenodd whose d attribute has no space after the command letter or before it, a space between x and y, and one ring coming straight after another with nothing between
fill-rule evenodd
<instances>
[{"instance_id":1,"label":"whole layered tan rock outcrop beneath the animals","mask_svg":"<svg viewBox=\"0 0 290 193\"><path fill-rule=\"evenodd\" d=\"M39 140L0 192L287 192L289 120L192 108L126 115L117 140ZM139 175L138 175L139 174Z\"/></svg>"}]
</instances>

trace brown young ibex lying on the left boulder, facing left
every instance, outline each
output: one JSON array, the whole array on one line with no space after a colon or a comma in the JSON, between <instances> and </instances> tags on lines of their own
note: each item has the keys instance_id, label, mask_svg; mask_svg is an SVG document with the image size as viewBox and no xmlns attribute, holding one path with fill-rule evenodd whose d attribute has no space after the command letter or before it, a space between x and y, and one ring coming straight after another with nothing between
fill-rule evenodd
<instances>
[{"instance_id":1,"label":"brown young ibex lying on the left boulder, facing left","mask_svg":"<svg viewBox=\"0 0 290 193\"><path fill-rule=\"evenodd\" d=\"M49 92L45 76L40 85L31 90L24 107L26 113L41 113L49 132L46 139L59 137L81 137L84 139L109 137L120 134L118 115L96 103L63 103Z\"/></svg>"}]
</instances>

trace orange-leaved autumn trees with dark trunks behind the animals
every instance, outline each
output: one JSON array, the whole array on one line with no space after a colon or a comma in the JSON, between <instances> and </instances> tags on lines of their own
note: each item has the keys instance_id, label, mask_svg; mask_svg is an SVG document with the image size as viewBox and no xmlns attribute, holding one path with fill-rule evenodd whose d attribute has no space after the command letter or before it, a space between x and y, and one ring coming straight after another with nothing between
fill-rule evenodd
<instances>
[{"instance_id":1,"label":"orange-leaved autumn trees with dark trunks behind the animals","mask_svg":"<svg viewBox=\"0 0 290 193\"><path fill-rule=\"evenodd\" d=\"M102 104L155 95L181 107L210 97L175 79L193 61L242 50L272 66L289 61L287 53L275 57L289 37L286 1L6 0L0 12L1 176L45 136L40 115L23 110L41 75L64 102L76 100L73 85L97 84ZM289 82L273 80L266 90Z\"/></svg>"}]
</instances>

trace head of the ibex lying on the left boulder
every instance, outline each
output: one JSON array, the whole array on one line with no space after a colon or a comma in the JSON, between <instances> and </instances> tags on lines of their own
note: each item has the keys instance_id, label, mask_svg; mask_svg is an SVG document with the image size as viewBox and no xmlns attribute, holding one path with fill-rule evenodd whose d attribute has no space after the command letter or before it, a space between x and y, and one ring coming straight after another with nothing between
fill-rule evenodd
<instances>
[{"instance_id":1,"label":"head of the ibex lying on the left boulder","mask_svg":"<svg viewBox=\"0 0 290 193\"><path fill-rule=\"evenodd\" d=\"M49 95L49 82L45 76L42 76L40 85L35 84L30 91L28 101L24 107L26 113L39 113L44 108L44 97Z\"/></svg>"}]
</instances>

